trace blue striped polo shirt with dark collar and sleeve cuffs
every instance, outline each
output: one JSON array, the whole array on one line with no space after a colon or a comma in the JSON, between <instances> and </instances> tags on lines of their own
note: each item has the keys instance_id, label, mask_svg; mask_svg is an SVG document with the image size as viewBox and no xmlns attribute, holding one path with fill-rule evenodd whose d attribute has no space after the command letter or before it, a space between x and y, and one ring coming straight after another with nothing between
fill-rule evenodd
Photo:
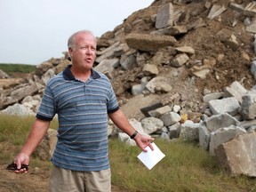
<instances>
[{"instance_id":1,"label":"blue striped polo shirt with dark collar and sleeve cuffs","mask_svg":"<svg viewBox=\"0 0 256 192\"><path fill-rule=\"evenodd\" d=\"M52 164L82 172L108 169L108 113L119 109L116 95L107 76L92 69L84 83L70 68L47 83L36 114L46 121L58 114Z\"/></svg>"}]
</instances>

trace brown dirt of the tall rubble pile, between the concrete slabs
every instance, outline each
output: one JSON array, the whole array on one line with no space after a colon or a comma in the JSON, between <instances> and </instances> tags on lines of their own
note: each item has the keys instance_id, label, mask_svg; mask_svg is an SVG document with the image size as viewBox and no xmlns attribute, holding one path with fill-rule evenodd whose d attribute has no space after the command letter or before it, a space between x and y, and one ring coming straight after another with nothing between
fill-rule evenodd
<instances>
[{"instance_id":1,"label":"brown dirt of the tall rubble pile, between the concrete slabs","mask_svg":"<svg viewBox=\"0 0 256 192\"><path fill-rule=\"evenodd\" d=\"M250 71L255 56L253 52L254 36L252 32L246 30L248 26L245 23L246 20L252 22L254 15L248 16L233 7L235 4L245 8L248 4L252 4L250 0L155 1L148 8L134 12L113 31L101 36L100 48L113 44L112 42L116 40L125 42L125 36L131 33L150 34L156 31L156 14L162 6L170 3L173 5L175 14L179 14L174 26L188 28L188 32L175 36L178 41L176 46L191 46L196 53L190 57L185 66L178 69L165 64L166 60L173 60L174 57L170 47L163 48L158 52L147 52L148 60L146 62L157 65L160 71L157 76L170 79L173 86L172 93L179 92L180 95L189 95L190 100L201 102L205 89L211 92L221 92L225 86L234 81L243 84L246 89L251 89L255 84L255 79ZM213 5L225 7L225 11L215 18L209 19L208 15ZM201 25L193 28L198 20L201 20ZM231 36L236 38L235 48L232 47L232 44L228 44L227 40ZM162 59L154 60L156 54L161 54ZM198 63L199 66L202 65L204 60L216 61L206 77L202 79L191 75L189 68ZM138 67L131 71L125 71L125 73L116 72L116 76L112 80L114 88L117 90L117 88L124 87L125 89L123 94L118 95L120 98L131 96L131 86L139 81L140 71L141 68ZM179 77L172 76L174 71L178 71Z\"/></svg>"}]
</instances>

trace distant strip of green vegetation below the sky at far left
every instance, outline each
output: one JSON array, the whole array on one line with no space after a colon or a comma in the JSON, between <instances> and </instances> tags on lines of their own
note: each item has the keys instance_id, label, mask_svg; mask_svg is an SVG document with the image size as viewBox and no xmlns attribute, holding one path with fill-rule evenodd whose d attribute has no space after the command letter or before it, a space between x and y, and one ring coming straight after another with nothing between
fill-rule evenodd
<instances>
[{"instance_id":1,"label":"distant strip of green vegetation below the sky at far left","mask_svg":"<svg viewBox=\"0 0 256 192\"><path fill-rule=\"evenodd\" d=\"M36 65L0 63L0 69L12 76L13 73L31 73L36 70Z\"/></svg>"}]
</instances>

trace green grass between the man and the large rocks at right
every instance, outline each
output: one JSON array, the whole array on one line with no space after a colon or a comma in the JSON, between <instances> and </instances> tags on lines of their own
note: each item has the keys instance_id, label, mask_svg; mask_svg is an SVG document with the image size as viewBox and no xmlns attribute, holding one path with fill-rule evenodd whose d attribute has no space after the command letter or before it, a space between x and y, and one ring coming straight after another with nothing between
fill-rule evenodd
<instances>
[{"instance_id":1,"label":"green grass between the man and the large rocks at right","mask_svg":"<svg viewBox=\"0 0 256 192\"><path fill-rule=\"evenodd\" d=\"M140 148L109 140L112 182L129 191L256 191L256 180L232 177L196 144L155 140L164 159L148 170L137 156Z\"/></svg>"}]
</instances>

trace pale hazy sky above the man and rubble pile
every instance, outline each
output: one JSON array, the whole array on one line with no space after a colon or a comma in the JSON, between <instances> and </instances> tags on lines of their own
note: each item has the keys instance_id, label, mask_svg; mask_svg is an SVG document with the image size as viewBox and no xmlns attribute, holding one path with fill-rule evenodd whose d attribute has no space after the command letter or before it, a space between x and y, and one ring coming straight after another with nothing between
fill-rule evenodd
<instances>
[{"instance_id":1,"label":"pale hazy sky above the man and rubble pile","mask_svg":"<svg viewBox=\"0 0 256 192\"><path fill-rule=\"evenodd\" d=\"M0 63L39 65L81 29L102 36L154 0L0 0Z\"/></svg>"}]
</instances>

